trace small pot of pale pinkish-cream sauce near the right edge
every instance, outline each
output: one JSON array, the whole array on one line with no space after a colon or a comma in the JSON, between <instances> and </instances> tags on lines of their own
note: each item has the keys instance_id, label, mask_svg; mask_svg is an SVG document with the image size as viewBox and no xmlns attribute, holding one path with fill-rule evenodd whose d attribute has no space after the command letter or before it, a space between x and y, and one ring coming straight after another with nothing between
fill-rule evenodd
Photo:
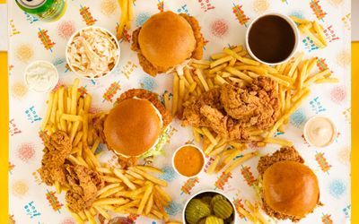
<instances>
[{"instance_id":1,"label":"small pot of pale pinkish-cream sauce near the right edge","mask_svg":"<svg viewBox=\"0 0 359 224\"><path fill-rule=\"evenodd\" d=\"M313 146L327 146L333 142L336 134L335 125L325 116L313 116L304 125L305 140Z\"/></svg>"}]
</instances>

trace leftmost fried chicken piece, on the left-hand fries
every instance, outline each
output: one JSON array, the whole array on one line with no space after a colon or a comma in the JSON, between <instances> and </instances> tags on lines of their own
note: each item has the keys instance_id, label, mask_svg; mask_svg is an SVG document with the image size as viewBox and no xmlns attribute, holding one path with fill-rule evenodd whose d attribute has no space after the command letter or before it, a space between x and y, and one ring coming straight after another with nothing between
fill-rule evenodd
<instances>
[{"instance_id":1,"label":"leftmost fried chicken piece, on the left-hand fries","mask_svg":"<svg viewBox=\"0 0 359 224\"><path fill-rule=\"evenodd\" d=\"M39 175L46 185L54 185L56 181L61 184L66 183L62 165L70 155L71 149L70 138L63 131L51 134L48 142L45 142Z\"/></svg>"}]
</instances>

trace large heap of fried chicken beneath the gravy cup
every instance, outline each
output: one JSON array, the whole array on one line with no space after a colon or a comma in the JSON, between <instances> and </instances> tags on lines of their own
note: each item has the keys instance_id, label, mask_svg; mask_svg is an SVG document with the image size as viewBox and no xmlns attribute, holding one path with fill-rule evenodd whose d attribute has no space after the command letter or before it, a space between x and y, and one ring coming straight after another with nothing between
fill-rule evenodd
<instances>
[{"instance_id":1,"label":"large heap of fried chicken beneath the gravy cup","mask_svg":"<svg viewBox=\"0 0 359 224\"><path fill-rule=\"evenodd\" d=\"M279 116L276 82L258 77L248 86L224 84L185 106L182 125L209 127L222 138L249 141L249 129L267 130Z\"/></svg>"}]
</instances>

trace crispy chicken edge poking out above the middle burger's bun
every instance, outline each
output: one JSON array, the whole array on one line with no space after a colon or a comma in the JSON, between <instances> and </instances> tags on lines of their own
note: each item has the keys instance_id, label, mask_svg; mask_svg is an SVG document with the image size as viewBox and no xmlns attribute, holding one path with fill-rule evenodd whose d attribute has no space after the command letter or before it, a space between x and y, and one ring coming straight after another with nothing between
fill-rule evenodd
<instances>
[{"instance_id":1,"label":"crispy chicken edge poking out above the middle burger's bun","mask_svg":"<svg viewBox=\"0 0 359 224\"><path fill-rule=\"evenodd\" d=\"M172 117L170 112L168 112L167 109L164 108L162 102L158 99L158 95L156 93L153 93L152 91L142 89L127 90L121 94L117 101L121 102L125 99L131 99L134 97L139 99L147 99L153 103L153 106L156 107L162 115L163 129L171 123Z\"/></svg>"}]
</instances>

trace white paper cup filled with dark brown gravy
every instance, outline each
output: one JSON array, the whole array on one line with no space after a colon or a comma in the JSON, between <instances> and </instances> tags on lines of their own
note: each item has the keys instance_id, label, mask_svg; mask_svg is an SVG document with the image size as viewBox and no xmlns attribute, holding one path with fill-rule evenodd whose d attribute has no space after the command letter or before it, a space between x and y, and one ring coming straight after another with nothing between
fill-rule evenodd
<instances>
[{"instance_id":1,"label":"white paper cup filled with dark brown gravy","mask_svg":"<svg viewBox=\"0 0 359 224\"><path fill-rule=\"evenodd\" d=\"M293 57L299 39L298 28L290 17L281 13L264 13L250 23L246 47L258 62L279 65Z\"/></svg>"}]
</instances>

